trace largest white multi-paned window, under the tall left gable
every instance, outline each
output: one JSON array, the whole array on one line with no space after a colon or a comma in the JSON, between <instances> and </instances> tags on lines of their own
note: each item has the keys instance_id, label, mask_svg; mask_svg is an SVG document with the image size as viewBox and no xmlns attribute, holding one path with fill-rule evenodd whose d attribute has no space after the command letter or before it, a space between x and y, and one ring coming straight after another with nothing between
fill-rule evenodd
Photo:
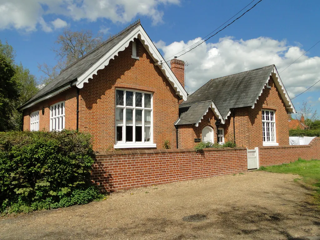
<instances>
[{"instance_id":1,"label":"largest white multi-paned window, under the tall left gable","mask_svg":"<svg viewBox=\"0 0 320 240\"><path fill-rule=\"evenodd\" d=\"M114 148L154 148L152 93L116 89Z\"/></svg>"}]
</instances>

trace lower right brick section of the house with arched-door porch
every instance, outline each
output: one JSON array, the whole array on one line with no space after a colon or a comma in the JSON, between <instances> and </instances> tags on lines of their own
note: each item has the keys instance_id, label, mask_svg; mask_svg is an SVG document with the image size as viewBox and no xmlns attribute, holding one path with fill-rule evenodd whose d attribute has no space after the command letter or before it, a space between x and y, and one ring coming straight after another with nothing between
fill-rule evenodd
<instances>
[{"instance_id":1,"label":"lower right brick section of the house with arched-door porch","mask_svg":"<svg viewBox=\"0 0 320 240\"><path fill-rule=\"evenodd\" d=\"M212 79L179 106L179 148L199 139L289 145L288 113L295 112L275 65Z\"/></svg>"}]
</instances>

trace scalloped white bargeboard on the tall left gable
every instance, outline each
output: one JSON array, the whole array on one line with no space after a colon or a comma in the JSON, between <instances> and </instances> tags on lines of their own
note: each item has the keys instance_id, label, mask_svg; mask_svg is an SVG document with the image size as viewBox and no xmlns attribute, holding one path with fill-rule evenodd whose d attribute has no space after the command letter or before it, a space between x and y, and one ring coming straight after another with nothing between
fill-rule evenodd
<instances>
[{"instance_id":1,"label":"scalloped white bargeboard on the tall left gable","mask_svg":"<svg viewBox=\"0 0 320 240\"><path fill-rule=\"evenodd\" d=\"M99 61L97 61L89 70L87 70L83 75L77 78L76 86L78 88L83 88L84 83L89 82L89 78L92 78L93 75L96 75L98 70L105 68L109 64L111 59L114 59L115 56L118 56L119 52L124 51L126 47L129 46L130 42L134 38L139 38L143 46L147 49L148 53L152 59L157 62L163 62L161 65L158 65L161 71L164 73L164 76L168 79L176 94L180 96L183 100L187 100L187 92L184 90L176 76L174 76L171 68L164 61L160 52L157 50L156 46L153 44L147 33L141 27L141 25L135 28L130 35L125 37L120 43L118 43L111 51L106 53Z\"/></svg>"}]
</instances>

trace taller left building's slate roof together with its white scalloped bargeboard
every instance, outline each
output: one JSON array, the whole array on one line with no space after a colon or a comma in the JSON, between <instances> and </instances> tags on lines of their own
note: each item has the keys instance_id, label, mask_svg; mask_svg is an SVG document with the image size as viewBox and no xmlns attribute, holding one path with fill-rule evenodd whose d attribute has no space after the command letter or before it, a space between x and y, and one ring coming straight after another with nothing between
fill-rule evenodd
<instances>
[{"instance_id":1,"label":"taller left building's slate roof together with its white scalloped bargeboard","mask_svg":"<svg viewBox=\"0 0 320 240\"><path fill-rule=\"evenodd\" d=\"M164 61L160 52L144 31L140 20L131 24L115 36L100 44L97 48L85 54L82 58L65 68L60 74L47 84L43 89L37 92L32 98L25 102L19 110L31 107L32 105L44 99L50 98L74 85L83 88L84 83L88 83L93 75L97 74L99 69L108 65L111 59L114 59L119 52L124 51L129 43L138 38L149 52L150 56L159 66L164 76L169 80L176 93L184 100L187 100L187 92L174 76L168 64ZM161 64L157 64L160 63Z\"/></svg>"}]
</instances>

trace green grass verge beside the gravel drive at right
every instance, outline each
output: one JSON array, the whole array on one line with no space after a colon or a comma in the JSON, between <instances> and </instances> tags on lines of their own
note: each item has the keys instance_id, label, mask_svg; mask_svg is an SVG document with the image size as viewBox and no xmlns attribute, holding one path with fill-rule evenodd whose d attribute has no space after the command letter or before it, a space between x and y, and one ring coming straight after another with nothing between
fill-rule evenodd
<instances>
[{"instance_id":1,"label":"green grass verge beside the gravel drive at right","mask_svg":"<svg viewBox=\"0 0 320 240\"><path fill-rule=\"evenodd\" d=\"M305 184L312 186L314 189L314 204L320 207L320 160L306 161L299 159L298 161L274 165L268 167L260 167L260 170L275 173L291 173L298 174L301 178L294 179L295 182L302 180Z\"/></svg>"}]
</instances>

